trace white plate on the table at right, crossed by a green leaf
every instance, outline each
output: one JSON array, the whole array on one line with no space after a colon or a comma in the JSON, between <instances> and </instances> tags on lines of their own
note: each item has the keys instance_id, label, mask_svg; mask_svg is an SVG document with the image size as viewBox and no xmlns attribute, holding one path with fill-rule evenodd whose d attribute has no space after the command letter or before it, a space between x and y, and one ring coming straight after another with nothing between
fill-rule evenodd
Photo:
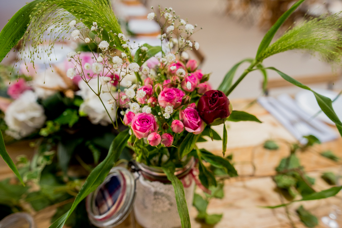
<instances>
[{"instance_id":1,"label":"white plate on the table at right, crossed by a green leaf","mask_svg":"<svg viewBox=\"0 0 342 228\"><path fill-rule=\"evenodd\" d=\"M331 100L334 100L338 93L326 90L326 89L313 89L318 94L321 94L323 96L326 96L330 98ZM308 114L314 116L317 112L319 112L321 109L318 106L318 103L316 101L315 95L313 92L308 90L300 91L296 97L295 100L297 101L298 105ZM342 96L340 96L336 101L332 103L332 107L336 113L336 115L339 117L339 119L342 119ZM323 120L324 122L328 124L334 124L328 116L324 112L320 112L317 117L320 120Z\"/></svg>"}]
</instances>

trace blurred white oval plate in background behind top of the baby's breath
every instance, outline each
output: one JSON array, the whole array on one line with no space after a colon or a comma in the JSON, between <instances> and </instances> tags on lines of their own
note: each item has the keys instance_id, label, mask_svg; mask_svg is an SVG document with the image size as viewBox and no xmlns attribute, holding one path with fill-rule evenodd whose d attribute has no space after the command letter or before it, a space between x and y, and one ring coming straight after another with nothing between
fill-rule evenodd
<instances>
[{"instance_id":1,"label":"blurred white oval plate in background behind top of the baby's breath","mask_svg":"<svg viewBox=\"0 0 342 228\"><path fill-rule=\"evenodd\" d=\"M135 34L149 34L159 32L160 26L155 21L132 19L128 22L128 29Z\"/></svg>"}]
</instances>

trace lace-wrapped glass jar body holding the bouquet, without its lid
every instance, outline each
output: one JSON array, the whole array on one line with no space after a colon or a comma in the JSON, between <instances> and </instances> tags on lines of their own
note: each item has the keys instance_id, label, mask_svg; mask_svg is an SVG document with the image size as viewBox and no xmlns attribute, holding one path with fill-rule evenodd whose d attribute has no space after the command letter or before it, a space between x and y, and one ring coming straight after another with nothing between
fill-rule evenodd
<instances>
[{"instance_id":1,"label":"lace-wrapped glass jar body holding the bouquet, without its lid","mask_svg":"<svg viewBox=\"0 0 342 228\"><path fill-rule=\"evenodd\" d=\"M162 169L137 164L140 177L136 181L134 215L144 228L181 227L173 186ZM191 158L184 168L177 168L175 175L182 181L188 209L191 208L195 181L190 173L195 166Z\"/></svg>"}]
</instances>

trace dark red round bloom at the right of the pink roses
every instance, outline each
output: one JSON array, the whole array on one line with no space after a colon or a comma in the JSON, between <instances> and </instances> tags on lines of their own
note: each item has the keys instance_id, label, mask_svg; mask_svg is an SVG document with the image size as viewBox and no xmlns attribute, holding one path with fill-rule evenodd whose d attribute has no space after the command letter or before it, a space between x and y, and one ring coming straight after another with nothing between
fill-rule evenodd
<instances>
[{"instance_id":1,"label":"dark red round bloom at the right of the pink roses","mask_svg":"<svg viewBox=\"0 0 342 228\"><path fill-rule=\"evenodd\" d=\"M207 124L220 125L232 113L232 104L223 92L209 90L199 99L197 111Z\"/></svg>"}]
</instances>

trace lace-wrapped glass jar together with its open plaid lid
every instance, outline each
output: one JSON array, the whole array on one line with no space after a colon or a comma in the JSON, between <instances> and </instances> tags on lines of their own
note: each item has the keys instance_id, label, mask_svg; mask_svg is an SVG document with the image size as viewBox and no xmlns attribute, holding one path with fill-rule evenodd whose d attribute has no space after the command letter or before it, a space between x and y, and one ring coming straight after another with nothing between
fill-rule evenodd
<instances>
[{"instance_id":1,"label":"lace-wrapped glass jar together with its open plaid lid","mask_svg":"<svg viewBox=\"0 0 342 228\"><path fill-rule=\"evenodd\" d=\"M194 166L192 157L174 173L183 183L188 208L194 197ZM174 189L163 170L135 162L130 168L134 175L123 167L112 168L104 182L87 196L90 222L97 227L113 228L134 208L135 219L144 228L181 227Z\"/></svg>"}]
</instances>

